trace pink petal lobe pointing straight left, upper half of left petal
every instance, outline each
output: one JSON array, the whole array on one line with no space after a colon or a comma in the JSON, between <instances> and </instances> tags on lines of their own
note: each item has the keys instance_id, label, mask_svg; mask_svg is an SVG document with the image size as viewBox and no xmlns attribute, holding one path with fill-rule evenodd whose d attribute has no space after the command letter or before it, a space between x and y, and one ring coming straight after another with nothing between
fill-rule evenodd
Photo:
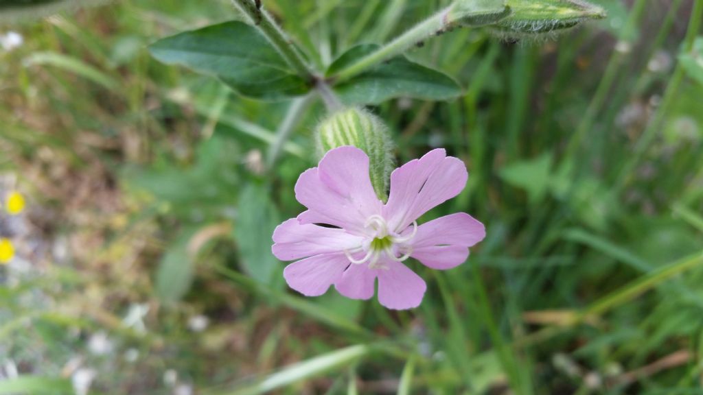
<instances>
[{"instance_id":1,"label":"pink petal lobe pointing straight left, upper half of left petal","mask_svg":"<svg viewBox=\"0 0 703 395\"><path fill-rule=\"evenodd\" d=\"M342 252L361 246L363 238L350 235L343 229L299 224L293 218L273 231L271 252L281 261L292 261L319 254Z\"/></svg>"}]
</instances>

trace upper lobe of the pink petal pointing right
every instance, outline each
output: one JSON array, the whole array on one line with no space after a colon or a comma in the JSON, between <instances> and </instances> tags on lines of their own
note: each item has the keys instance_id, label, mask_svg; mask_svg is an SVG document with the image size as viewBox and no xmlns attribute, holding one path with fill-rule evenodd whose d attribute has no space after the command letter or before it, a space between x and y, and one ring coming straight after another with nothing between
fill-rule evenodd
<instances>
[{"instance_id":1,"label":"upper lobe of the pink petal pointing right","mask_svg":"<svg viewBox=\"0 0 703 395\"><path fill-rule=\"evenodd\" d=\"M406 231L408 232L408 231ZM486 227L465 212L441 216L418 226L414 248L432 245L471 247L486 237Z\"/></svg>"}]
</instances>

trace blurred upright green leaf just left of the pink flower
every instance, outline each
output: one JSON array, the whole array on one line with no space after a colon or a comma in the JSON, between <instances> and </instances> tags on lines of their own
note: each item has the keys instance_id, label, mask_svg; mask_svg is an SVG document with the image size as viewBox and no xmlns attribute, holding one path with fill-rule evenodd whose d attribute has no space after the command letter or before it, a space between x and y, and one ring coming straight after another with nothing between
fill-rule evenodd
<instances>
[{"instance_id":1,"label":"blurred upright green leaf just left of the pink flower","mask_svg":"<svg viewBox=\"0 0 703 395\"><path fill-rule=\"evenodd\" d=\"M280 223L280 214L271 202L269 188L256 184L246 186L239 197L237 213L234 237L243 268L261 283L280 284L281 265L271 254L271 236Z\"/></svg>"}]
</instances>

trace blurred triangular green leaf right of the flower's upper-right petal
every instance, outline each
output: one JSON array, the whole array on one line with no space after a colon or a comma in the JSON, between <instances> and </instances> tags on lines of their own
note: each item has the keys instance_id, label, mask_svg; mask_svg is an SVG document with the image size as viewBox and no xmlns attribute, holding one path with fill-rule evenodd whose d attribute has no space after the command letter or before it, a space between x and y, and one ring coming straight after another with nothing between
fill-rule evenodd
<instances>
[{"instance_id":1,"label":"blurred triangular green leaf right of the flower's upper-right petal","mask_svg":"<svg viewBox=\"0 0 703 395\"><path fill-rule=\"evenodd\" d=\"M503 167L501 178L511 186L527 190L529 202L539 202L550 185L552 155L546 153L534 160L517 162Z\"/></svg>"}]
</instances>

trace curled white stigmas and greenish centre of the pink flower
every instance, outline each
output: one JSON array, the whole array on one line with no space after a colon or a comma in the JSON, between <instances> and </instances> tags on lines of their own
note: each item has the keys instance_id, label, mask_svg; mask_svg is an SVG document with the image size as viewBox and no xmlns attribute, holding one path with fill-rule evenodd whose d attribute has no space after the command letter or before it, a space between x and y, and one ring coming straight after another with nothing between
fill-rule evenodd
<instances>
[{"instance_id":1,"label":"curled white stigmas and greenish centre of the pink flower","mask_svg":"<svg viewBox=\"0 0 703 395\"><path fill-rule=\"evenodd\" d=\"M413 247L408 244L408 242L413 240L415 234L418 233L417 222L413 221L413 231L404 236L401 235L403 231L400 233L389 231L386 220L378 214L368 217L364 226L370 230L369 237L371 241L368 243L368 247L360 246L352 250L344 251L344 254L347 255L347 259L349 259L352 264L361 265L368 262L369 268L387 269L387 266L379 262L383 254L386 254L388 259L402 262L408 259L413 253ZM366 254L361 259L354 259L352 254L359 252L366 252ZM398 254L401 254L401 256L398 256Z\"/></svg>"}]
</instances>

